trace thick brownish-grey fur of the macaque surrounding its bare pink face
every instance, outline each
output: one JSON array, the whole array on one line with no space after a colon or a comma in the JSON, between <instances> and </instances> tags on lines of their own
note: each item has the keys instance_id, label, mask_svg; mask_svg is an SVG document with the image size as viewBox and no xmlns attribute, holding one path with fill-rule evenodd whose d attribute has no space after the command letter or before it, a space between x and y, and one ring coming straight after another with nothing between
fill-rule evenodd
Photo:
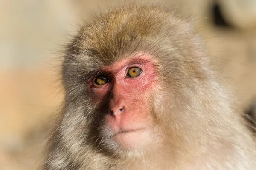
<instances>
[{"instance_id":1,"label":"thick brownish-grey fur of the macaque surrounding its bare pink face","mask_svg":"<svg viewBox=\"0 0 256 170\"><path fill-rule=\"evenodd\" d=\"M85 82L139 52L158 67L150 107L159 141L133 153L104 145L105 105L91 102ZM64 107L42 169L253 170L252 136L208 62L189 22L164 7L128 5L94 17L68 45Z\"/></svg>"}]
</instances>

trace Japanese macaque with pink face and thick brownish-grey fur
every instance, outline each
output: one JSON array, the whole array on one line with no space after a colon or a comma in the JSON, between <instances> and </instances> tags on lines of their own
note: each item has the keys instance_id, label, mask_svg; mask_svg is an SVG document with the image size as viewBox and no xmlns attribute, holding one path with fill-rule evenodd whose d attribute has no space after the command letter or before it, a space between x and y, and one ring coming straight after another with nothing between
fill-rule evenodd
<instances>
[{"instance_id":1,"label":"Japanese macaque with pink face and thick brownish-grey fur","mask_svg":"<svg viewBox=\"0 0 256 170\"><path fill-rule=\"evenodd\" d=\"M81 26L43 170L253 170L253 135L192 24L157 5Z\"/></svg>"}]
</instances>

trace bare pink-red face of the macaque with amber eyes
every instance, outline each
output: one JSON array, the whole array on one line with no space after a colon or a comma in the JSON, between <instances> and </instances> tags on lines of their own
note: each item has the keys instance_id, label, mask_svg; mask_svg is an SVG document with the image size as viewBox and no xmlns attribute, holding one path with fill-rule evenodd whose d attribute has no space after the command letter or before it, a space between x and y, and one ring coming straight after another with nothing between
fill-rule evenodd
<instances>
[{"instance_id":1,"label":"bare pink-red face of the macaque with amber eyes","mask_svg":"<svg viewBox=\"0 0 256 170\"><path fill-rule=\"evenodd\" d=\"M137 55L106 66L91 81L97 103L110 94L107 125L122 147L139 147L152 140L151 92L156 88L157 70L153 59ZM94 81L95 80L95 81Z\"/></svg>"}]
</instances>

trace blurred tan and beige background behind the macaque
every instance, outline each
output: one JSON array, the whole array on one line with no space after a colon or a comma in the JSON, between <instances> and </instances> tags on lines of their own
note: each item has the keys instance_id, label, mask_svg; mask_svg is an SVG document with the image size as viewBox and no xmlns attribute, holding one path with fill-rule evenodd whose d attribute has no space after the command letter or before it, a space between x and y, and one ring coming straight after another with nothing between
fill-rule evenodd
<instances>
[{"instance_id":1,"label":"blurred tan and beige background behind the macaque","mask_svg":"<svg viewBox=\"0 0 256 170\"><path fill-rule=\"evenodd\" d=\"M118 0L112 0L116 2ZM168 0L165 0L168 2ZM256 0L169 0L191 14L237 106L256 97ZM58 114L59 51L110 0L0 0L0 170L35 170Z\"/></svg>"}]
</instances>

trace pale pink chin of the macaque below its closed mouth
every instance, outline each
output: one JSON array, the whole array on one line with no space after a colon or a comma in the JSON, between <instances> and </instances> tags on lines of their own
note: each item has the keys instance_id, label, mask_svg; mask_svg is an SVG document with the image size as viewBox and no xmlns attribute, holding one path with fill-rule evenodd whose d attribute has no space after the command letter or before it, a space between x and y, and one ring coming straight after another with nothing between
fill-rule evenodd
<instances>
[{"instance_id":1,"label":"pale pink chin of the macaque below its closed mouth","mask_svg":"<svg viewBox=\"0 0 256 170\"><path fill-rule=\"evenodd\" d=\"M143 150L153 142L150 130L136 129L136 130L122 130L116 133L114 138L116 142L124 150Z\"/></svg>"}]
</instances>

